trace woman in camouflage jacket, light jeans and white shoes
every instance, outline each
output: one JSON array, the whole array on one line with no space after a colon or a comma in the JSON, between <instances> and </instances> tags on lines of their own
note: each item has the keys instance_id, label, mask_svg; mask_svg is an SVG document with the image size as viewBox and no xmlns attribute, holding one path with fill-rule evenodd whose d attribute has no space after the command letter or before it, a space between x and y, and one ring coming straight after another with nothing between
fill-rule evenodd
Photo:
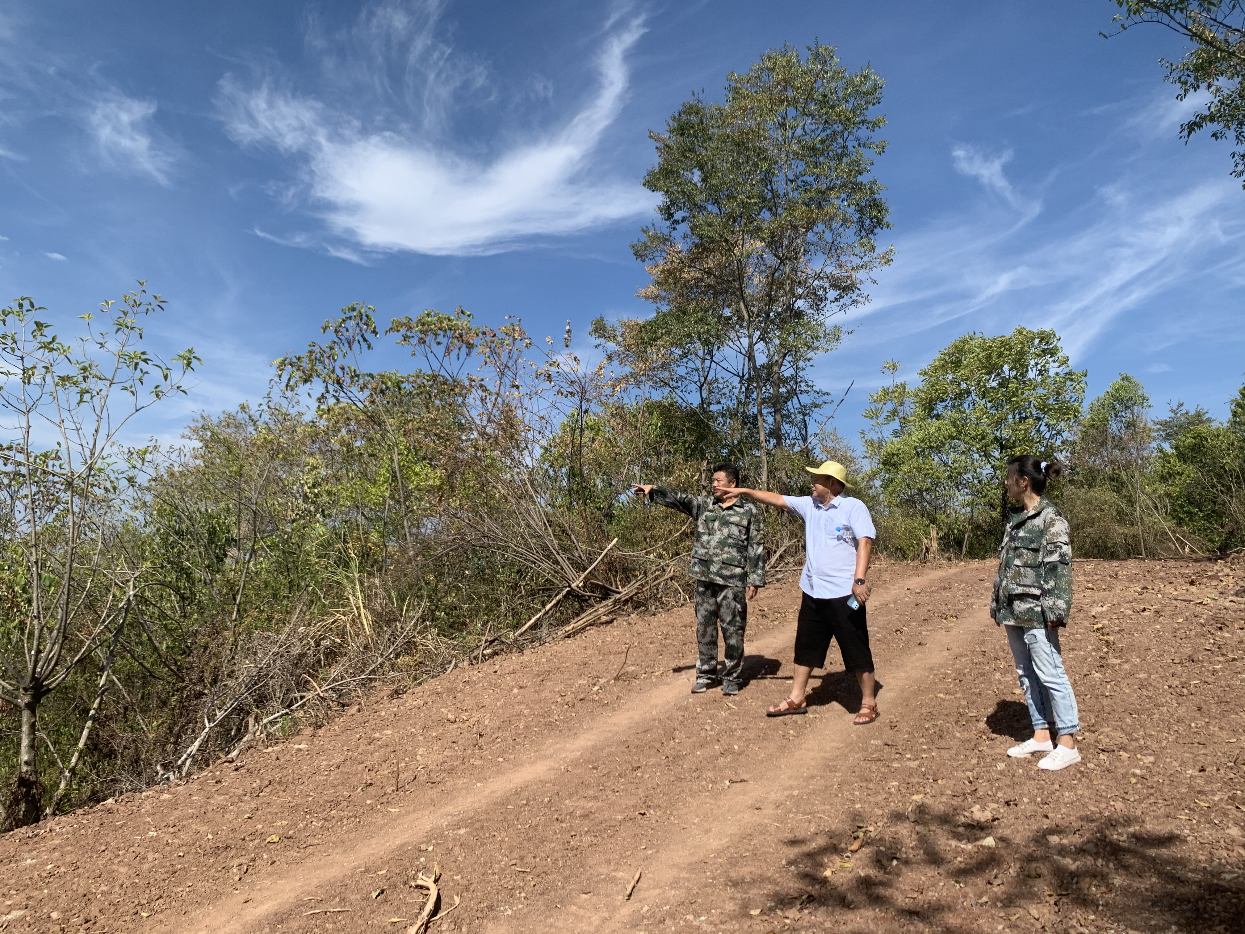
<instances>
[{"instance_id":1,"label":"woman in camouflage jacket, light jeans and white shoes","mask_svg":"<svg viewBox=\"0 0 1245 934\"><path fill-rule=\"evenodd\" d=\"M1021 508L1007 521L990 600L990 616L1007 633L1033 721L1033 738L1007 755L1047 752L1037 765L1048 771L1081 761L1073 738L1081 730L1077 699L1059 653L1059 629L1072 610L1072 542L1067 519L1042 497L1046 482L1062 469L1032 455L1007 462L1007 494ZM1051 742L1052 731L1057 743Z\"/></svg>"}]
</instances>

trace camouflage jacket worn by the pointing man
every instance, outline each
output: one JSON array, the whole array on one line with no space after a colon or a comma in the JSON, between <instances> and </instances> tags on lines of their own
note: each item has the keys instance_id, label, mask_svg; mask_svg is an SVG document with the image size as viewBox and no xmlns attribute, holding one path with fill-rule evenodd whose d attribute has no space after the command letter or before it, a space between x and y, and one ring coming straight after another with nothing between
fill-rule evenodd
<instances>
[{"instance_id":1,"label":"camouflage jacket worn by the pointing man","mask_svg":"<svg viewBox=\"0 0 1245 934\"><path fill-rule=\"evenodd\" d=\"M766 533L761 511L748 499L723 507L711 496L687 496L654 487L649 498L696 521L688 575L730 587L766 585Z\"/></svg>"}]
</instances>

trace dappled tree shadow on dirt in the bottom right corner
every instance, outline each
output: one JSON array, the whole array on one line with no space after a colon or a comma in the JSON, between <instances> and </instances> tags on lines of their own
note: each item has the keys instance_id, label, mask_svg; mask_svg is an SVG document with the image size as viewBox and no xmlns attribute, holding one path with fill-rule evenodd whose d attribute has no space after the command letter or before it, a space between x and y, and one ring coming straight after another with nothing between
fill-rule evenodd
<instances>
[{"instance_id":1,"label":"dappled tree shadow on dirt in the bottom right corner","mask_svg":"<svg viewBox=\"0 0 1245 934\"><path fill-rule=\"evenodd\" d=\"M796 930L898 922L946 932L1245 932L1245 874L1193 863L1178 852L1180 833L1147 831L1129 817L1057 833L1033 823L1013 817L1005 829L980 812L913 802L868 826L791 838L794 878L766 893L763 914ZM863 844L852 853L857 836Z\"/></svg>"}]
</instances>

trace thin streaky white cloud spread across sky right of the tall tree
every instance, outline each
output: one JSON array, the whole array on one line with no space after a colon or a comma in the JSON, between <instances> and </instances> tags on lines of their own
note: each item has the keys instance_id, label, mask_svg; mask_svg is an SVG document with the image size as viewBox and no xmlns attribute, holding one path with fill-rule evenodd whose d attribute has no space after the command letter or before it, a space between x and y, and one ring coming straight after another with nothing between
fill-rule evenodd
<instances>
[{"instance_id":1,"label":"thin streaky white cloud spread across sky right of the tall tree","mask_svg":"<svg viewBox=\"0 0 1245 934\"><path fill-rule=\"evenodd\" d=\"M1051 207L1005 174L1011 152L956 146L954 169L996 197L949 203L896 238L895 263L862 310L868 326L852 339L862 366L835 361L834 379L855 376L868 389L878 379L876 362L867 361L898 356L919 367L965 331L1017 325L1053 328L1078 365L1103 352L1118 357L1123 341L1147 355L1137 367L1153 364L1154 374L1169 361L1150 355L1193 333L1239 341L1229 310L1245 285L1239 183L1221 152L1142 132L1159 117L1174 132L1177 118L1153 97L1122 111L1114 108L1111 136L1068 154L1078 172L1042 169ZM1111 182L1086 194L1089 171Z\"/></svg>"}]
</instances>

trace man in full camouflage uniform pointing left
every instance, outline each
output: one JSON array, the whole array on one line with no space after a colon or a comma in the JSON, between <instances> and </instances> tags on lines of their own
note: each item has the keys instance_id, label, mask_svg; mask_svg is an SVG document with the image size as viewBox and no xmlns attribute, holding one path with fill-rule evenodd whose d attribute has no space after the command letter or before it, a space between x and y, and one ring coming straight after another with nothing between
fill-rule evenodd
<instances>
[{"instance_id":1,"label":"man in full camouflage uniform pointing left","mask_svg":"<svg viewBox=\"0 0 1245 934\"><path fill-rule=\"evenodd\" d=\"M738 694L743 672L743 633L748 600L766 585L764 528L761 511L732 494L740 471L725 463L713 468L713 496L687 496L665 487L634 483L650 502L687 513L696 522L688 577L696 582L696 684L692 694L718 682L722 694ZM722 629L726 665L717 671L717 630Z\"/></svg>"}]
</instances>

